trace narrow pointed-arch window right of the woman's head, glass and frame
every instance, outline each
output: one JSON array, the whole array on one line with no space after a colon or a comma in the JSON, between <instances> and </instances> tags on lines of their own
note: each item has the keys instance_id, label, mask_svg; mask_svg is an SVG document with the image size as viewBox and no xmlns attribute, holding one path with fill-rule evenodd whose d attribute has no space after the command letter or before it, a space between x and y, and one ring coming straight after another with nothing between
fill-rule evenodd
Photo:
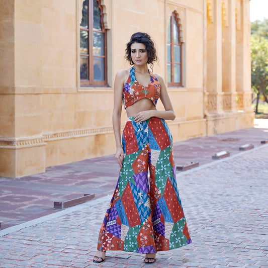
<instances>
[{"instance_id":1,"label":"narrow pointed-arch window right of the woman's head, glass and frame","mask_svg":"<svg viewBox=\"0 0 268 268\"><path fill-rule=\"evenodd\" d=\"M167 84L168 86L182 85L180 25L174 12L170 16L167 33Z\"/></svg>"}]
</instances>

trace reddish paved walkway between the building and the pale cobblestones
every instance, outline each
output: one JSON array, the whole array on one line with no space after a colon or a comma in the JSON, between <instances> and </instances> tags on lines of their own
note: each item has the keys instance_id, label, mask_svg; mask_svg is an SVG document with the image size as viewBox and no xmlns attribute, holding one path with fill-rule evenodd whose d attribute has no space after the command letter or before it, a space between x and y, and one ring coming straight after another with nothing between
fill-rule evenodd
<instances>
[{"instance_id":1,"label":"reddish paved walkway between the building and the pale cobblestones","mask_svg":"<svg viewBox=\"0 0 268 268\"><path fill-rule=\"evenodd\" d=\"M234 155L240 153L243 144L263 146L260 141L268 140L268 119L255 120L255 124L255 128L174 143L176 165L218 161L212 159L213 154L226 150ZM112 194L118 173L114 155L109 155L48 167L46 172L31 176L0 177L1 229L57 212L54 201L84 194L95 194L95 199Z\"/></svg>"}]
</instances>

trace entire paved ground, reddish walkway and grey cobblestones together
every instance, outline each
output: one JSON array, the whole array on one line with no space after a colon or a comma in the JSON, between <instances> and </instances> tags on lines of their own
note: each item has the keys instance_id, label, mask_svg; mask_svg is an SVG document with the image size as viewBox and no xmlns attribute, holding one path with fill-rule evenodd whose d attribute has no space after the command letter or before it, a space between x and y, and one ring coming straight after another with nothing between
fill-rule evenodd
<instances>
[{"instance_id":1,"label":"entire paved ground, reddish walkway and grey cobblestones together","mask_svg":"<svg viewBox=\"0 0 268 268\"><path fill-rule=\"evenodd\" d=\"M263 122L268 120L256 121L256 128L174 144L177 165L201 164L177 172L193 243L158 252L151 267L268 267L268 144L260 144L268 138L268 125ZM245 143L255 148L239 151ZM221 150L231 156L212 160L211 155ZM0 231L0 268L148 267L143 255L131 252L110 251L105 262L92 262L117 173L114 156L106 156L51 167L34 176L0 178L1 221L12 205L17 212L17 221L6 222L13 227ZM95 193L96 199L65 210L51 208L55 196L82 193ZM45 216L34 213L36 201Z\"/></svg>"}]
</instances>

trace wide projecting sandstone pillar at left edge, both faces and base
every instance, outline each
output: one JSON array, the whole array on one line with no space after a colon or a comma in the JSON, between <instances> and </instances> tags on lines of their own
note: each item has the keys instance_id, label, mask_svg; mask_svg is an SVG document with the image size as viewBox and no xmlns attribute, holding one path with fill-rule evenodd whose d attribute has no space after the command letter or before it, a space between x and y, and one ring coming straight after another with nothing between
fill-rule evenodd
<instances>
[{"instance_id":1,"label":"wide projecting sandstone pillar at left edge, both faces and base","mask_svg":"<svg viewBox=\"0 0 268 268\"><path fill-rule=\"evenodd\" d=\"M14 0L0 4L0 176L45 171L42 98L35 89L42 81L41 2L34 7L39 9L30 12Z\"/></svg>"}]
</instances>

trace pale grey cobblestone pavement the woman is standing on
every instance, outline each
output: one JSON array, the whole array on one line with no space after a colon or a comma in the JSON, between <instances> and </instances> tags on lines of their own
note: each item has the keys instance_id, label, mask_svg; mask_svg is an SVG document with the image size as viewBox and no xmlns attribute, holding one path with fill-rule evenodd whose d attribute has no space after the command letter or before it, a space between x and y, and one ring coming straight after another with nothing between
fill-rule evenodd
<instances>
[{"instance_id":1,"label":"pale grey cobblestone pavement the woman is standing on","mask_svg":"<svg viewBox=\"0 0 268 268\"><path fill-rule=\"evenodd\" d=\"M177 173L193 243L157 253L153 264L144 264L144 255L120 251L108 252L101 264L92 262L111 198L106 196L21 230L17 225L0 231L0 267L268 266L267 156L263 145Z\"/></svg>"}]
</instances>

